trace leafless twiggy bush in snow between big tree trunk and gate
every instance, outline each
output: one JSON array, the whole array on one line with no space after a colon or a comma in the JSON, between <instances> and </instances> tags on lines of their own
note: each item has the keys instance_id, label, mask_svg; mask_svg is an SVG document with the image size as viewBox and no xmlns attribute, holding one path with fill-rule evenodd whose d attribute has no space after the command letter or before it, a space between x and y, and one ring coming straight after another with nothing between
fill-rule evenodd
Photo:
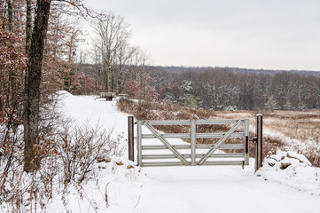
<instances>
[{"instance_id":1,"label":"leafless twiggy bush in snow between big tree trunk and gate","mask_svg":"<svg viewBox=\"0 0 320 213\"><path fill-rule=\"evenodd\" d=\"M90 128L88 124L74 126L72 129L66 124L56 138L56 143L63 163L65 183L71 180L81 183L92 170L97 157L102 152L110 154L117 146L110 141L110 133L98 126Z\"/></svg>"}]
</instances>

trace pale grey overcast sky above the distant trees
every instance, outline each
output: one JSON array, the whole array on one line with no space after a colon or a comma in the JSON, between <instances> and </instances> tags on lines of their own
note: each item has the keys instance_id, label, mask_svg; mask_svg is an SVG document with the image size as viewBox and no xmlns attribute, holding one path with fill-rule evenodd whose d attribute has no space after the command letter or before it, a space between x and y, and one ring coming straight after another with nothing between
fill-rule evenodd
<instances>
[{"instance_id":1,"label":"pale grey overcast sky above the distant trees","mask_svg":"<svg viewBox=\"0 0 320 213\"><path fill-rule=\"evenodd\" d=\"M87 0L121 14L152 65L320 71L320 0Z\"/></svg>"}]
</instances>

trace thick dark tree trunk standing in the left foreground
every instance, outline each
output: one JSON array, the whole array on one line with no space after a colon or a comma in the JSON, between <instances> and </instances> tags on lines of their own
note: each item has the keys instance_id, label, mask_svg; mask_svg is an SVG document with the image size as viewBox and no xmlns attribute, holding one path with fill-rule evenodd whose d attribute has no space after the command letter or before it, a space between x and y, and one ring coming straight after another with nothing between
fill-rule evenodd
<instances>
[{"instance_id":1,"label":"thick dark tree trunk standing in the left foreground","mask_svg":"<svg viewBox=\"0 0 320 213\"><path fill-rule=\"evenodd\" d=\"M39 156L35 153L35 145L39 142L39 103L40 82L43 65L44 39L47 34L51 0L37 0L35 10L35 26L32 33L29 60L26 76L26 102L24 112L24 170L38 170Z\"/></svg>"}]
</instances>

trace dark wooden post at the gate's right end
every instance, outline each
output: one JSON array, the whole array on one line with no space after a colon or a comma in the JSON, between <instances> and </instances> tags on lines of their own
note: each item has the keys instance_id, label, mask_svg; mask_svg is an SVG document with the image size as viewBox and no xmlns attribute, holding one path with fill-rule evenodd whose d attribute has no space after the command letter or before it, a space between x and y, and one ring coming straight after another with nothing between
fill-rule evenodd
<instances>
[{"instance_id":1,"label":"dark wooden post at the gate's right end","mask_svg":"<svg viewBox=\"0 0 320 213\"><path fill-rule=\"evenodd\" d=\"M255 144L255 171L262 166L262 114L257 114L255 122L255 135L257 137Z\"/></svg>"}]
</instances>

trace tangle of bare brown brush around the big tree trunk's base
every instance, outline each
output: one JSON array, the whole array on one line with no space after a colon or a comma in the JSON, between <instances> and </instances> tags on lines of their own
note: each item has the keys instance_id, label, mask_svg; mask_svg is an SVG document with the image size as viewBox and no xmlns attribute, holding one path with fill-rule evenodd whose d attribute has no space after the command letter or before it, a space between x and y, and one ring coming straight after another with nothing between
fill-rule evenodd
<instances>
[{"instance_id":1,"label":"tangle of bare brown brush around the big tree trunk's base","mask_svg":"<svg viewBox=\"0 0 320 213\"><path fill-rule=\"evenodd\" d=\"M45 211L46 202L61 187L64 188L62 199L66 205L64 198L67 197L68 185L74 184L82 196L82 181L92 177L94 172L90 171L98 155L121 153L118 146L119 140L123 139L121 136L113 140L111 132L106 132L98 125L73 126L53 112L46 111L45 114L43 118L47 119L42 122L41 141L34 147L41 162L40 170L30 173L23 171L23 139L19 128L9 134L7 146L1 149L2 212ZM12 139L15 139L14 143Z\"/></svg>"}]
</instances>

